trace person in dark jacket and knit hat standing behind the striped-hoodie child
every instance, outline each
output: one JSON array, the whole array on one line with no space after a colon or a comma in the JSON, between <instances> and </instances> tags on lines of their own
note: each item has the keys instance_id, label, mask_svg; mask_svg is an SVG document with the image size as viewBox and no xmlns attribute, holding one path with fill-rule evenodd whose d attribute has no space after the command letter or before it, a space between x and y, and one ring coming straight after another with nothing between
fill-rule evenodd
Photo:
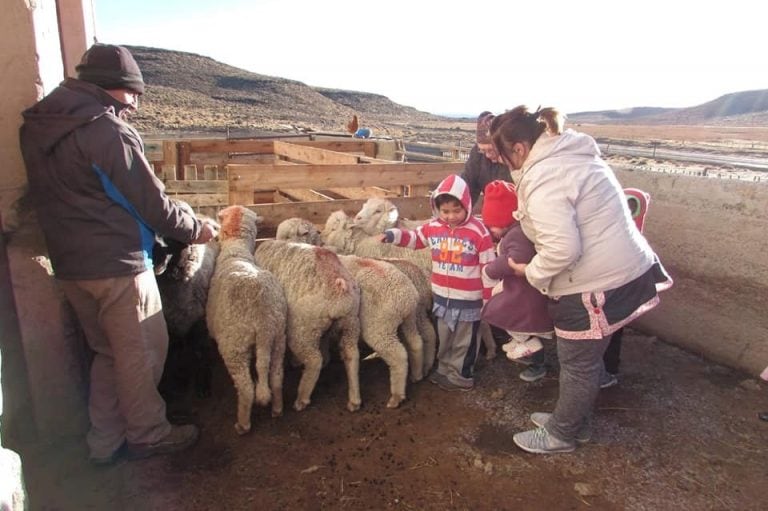
<instances>
[{"instance_id":1,"label":"person in dark jacket and knit hat standing behind the striped-hoodie child","mask_svg":"<svg viewBox=\"0 0 768 511\"><path fill-rule=\"evenodd\" d=\"M469 194L474 205L474 213L479 213L482 208L480 194L491 181L498 179L512 182L509 169L498 161L499 155L493 148L488 129L491 126L494 115L485 111L477 117L476 143L469 151L469 158L464 164L461 178L469 186Z\"/></svg>"}]
</instances>

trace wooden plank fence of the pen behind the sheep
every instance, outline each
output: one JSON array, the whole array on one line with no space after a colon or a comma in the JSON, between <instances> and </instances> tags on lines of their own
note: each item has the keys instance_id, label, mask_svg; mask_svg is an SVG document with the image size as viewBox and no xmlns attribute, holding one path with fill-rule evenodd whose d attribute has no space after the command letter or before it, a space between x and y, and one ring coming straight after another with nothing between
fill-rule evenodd
<instances>
[{"instance_id":1,"label":"wooden plank fence of the pen behind the sheep","mask_svg":"<svg viewBox=\"0 0 768 511\"><path fill-rule=\"evenodd\" d=\"M380 158L370 140L164 140L147 152L166 193L215 216L240 204L264 218L269 236L286 218L322 226L343 209L355 214L370 197L387 197L406 218L429 218L429 192L461 161L404 163ZM389 152L395 155L394 142Z\"/></svg>"}]
</instances>

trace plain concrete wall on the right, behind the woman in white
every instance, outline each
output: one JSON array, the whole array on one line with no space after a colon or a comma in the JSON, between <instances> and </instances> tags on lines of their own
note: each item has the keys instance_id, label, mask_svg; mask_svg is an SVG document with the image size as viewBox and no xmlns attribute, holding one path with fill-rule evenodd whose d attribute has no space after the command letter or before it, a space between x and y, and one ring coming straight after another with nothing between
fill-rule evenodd
<instances>
[{"instance_id":1,"label":"plain concrete wall on the right, behind the woman in white","mask_svg":"<svg viewBox=\"0 0 768 511\"><path fill-rule=\"evenodd\" d=\"M646 236L675 280L638 328L753 376L768 366L768 185L615 169L651 194Z\"/></svg>"}]
</instances>

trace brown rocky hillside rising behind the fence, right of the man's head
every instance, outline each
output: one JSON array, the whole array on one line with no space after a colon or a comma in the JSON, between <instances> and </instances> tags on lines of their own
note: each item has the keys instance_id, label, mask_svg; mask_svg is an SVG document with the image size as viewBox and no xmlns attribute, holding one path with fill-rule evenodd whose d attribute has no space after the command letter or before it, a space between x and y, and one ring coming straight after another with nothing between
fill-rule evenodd
<instances>
[{"instance_id":1,"label":"brown rocky hillside rising behind the fence, right of the man's head","mask_svg":"<svg viewBox=\"0 0 768 511\"><path fill-rule=\"evenodd\" d=\"M379 94L310 87L193 53L128 48L147 83L139 113L132 118L144 132L344 132L357 114L361 126L387 134L392 122L441 119Z\"/></svg>"}]
</instances>

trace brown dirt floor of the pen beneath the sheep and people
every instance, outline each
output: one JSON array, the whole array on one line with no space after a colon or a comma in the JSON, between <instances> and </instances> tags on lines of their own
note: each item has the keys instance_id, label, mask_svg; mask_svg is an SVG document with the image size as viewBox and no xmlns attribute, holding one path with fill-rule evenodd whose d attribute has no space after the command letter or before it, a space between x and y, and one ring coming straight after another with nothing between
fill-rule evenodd
<instances>
[{"instance_id":1,"label":"brown dirt floor of the pen beneath the sheep and people","mask_svg":"<svg viewBox=\"0 0 768 511\"><path fill-rule=\"evenodd\" d=\"M663 306L663 304L662 304ZM23 449L32 510L757 510L768 505L768 389L629 330L619 385L602 390L591 443L574 453L533 455L512 435L529 415L552 410L550 371L535 383L500 354L482 358L471 392L409 384L385 407L388 371L361 363L363 407L345 408L341 362L321 373L312 404L236 435L235 393L220 361L213 397L173 403L201 426L190 450L93 467L83 439ZM295 398L299 370L286 373Z\"/></svg>"}]
</instances>

